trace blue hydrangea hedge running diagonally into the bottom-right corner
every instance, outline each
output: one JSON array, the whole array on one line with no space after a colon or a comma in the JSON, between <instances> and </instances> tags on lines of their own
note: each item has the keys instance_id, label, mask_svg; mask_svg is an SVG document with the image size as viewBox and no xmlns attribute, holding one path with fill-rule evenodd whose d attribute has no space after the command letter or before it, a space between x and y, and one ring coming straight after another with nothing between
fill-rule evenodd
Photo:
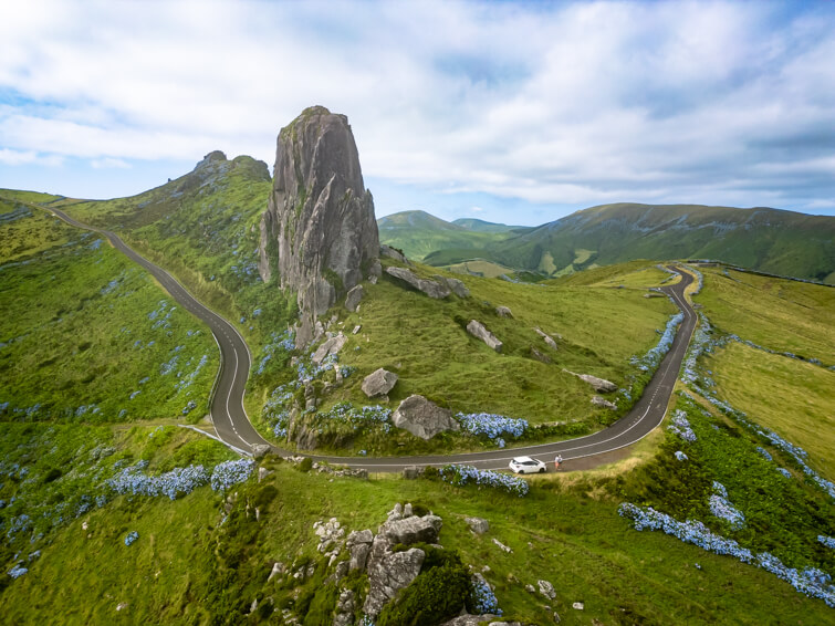
<instances>
[{"instance_id":1,"label":"blue hydrangea hedge running diagonally into the bottom-right corner","mask_svg":"<svg viewBox=\"0 0 835 626\"><path fill-rule=\"evenodd\" d=\"M679 522L666 513L656 511L651 507L640 509L635 504L624 502L618 508L618 513L624 518L633 520L635 530L637 531L661 530L685 543L692 543L714 554L728 554L740 560L742 563L756 565L786 581L802 594L821 598L828 606L835 607L835 587L831 584L829 575L821 570L808 567L799 571L793 567L786 567L772 554L761 552L755 555L747 547L741 547L735 541L711 532L699 521L687 520L686 522Z\"/></svg>"}]
</instances>

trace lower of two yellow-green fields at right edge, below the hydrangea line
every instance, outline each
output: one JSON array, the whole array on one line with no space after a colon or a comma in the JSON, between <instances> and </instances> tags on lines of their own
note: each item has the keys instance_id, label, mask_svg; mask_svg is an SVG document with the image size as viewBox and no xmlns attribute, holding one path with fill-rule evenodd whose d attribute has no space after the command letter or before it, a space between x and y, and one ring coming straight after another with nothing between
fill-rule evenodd
<instances>
[{"instance_id":1,"label":"lower of two yellow-green fields at right edge, below the hydrangea line","mask_svg":"<svg viewBox=\"0 0 835 626\"><path fill-rule=\"evenodd\" d=\"M718 396L811 455L835 479L835 372L739 343L706 359Z\"/></svg>"}]
</instances>

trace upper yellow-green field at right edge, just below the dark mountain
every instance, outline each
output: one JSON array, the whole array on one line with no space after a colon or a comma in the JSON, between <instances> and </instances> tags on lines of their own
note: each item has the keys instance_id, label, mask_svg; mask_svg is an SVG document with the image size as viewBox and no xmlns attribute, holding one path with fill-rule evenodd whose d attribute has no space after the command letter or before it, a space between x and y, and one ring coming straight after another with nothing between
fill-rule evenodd
<instances>
[{"instance_id":1,"label":"upper yellow-green field at right edge, just below the dark mountain","mask_svg":"<svg viewBox=\"0 0 835 626\"><path fill-rule=\"evenodd\" d=\"M696 302L710 323L777 352L835 364L835 289L704 268Z\"/></svg>"}]
</instances>

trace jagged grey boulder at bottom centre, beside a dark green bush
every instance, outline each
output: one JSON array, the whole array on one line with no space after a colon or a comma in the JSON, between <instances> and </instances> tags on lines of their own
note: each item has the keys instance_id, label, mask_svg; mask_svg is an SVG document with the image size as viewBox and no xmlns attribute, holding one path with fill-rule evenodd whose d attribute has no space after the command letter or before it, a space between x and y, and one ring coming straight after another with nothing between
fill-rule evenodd
<instances>
[{"instance_id":1,"label":"jagged grey boulder at bottom centre, beside a dark green bush","mask_svg":"<svg viewBox=\"0 0 835 626\"><path fill-rule=\"evenodd\" d=\"M368 595L363 611L376 617L383 606L420 573L426 553L417 547L390 552L387 540L377 538L368 559Z\"/></svg>"}]
</instances>

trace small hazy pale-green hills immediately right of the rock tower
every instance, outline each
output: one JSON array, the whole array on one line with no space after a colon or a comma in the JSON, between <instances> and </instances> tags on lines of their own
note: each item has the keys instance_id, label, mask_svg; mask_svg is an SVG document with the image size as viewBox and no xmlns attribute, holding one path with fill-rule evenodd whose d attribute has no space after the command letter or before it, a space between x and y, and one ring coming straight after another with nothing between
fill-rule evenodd
<instances>
[{"instance_id":1,"label":"small hazy pale-green hills immediately right of the rock tower","mask_svg":"<svg viewBox=\"0 0 835 626\"><path fill-rule=\"evenodd\" d=\"M462 222L462 223L461 223ZM480 249L507 239L513 227L481 220L448 222L425 211L403 211L377 220L380 243L398 248L416 261L446 248Z\"/></svg>"}]
</instances>

